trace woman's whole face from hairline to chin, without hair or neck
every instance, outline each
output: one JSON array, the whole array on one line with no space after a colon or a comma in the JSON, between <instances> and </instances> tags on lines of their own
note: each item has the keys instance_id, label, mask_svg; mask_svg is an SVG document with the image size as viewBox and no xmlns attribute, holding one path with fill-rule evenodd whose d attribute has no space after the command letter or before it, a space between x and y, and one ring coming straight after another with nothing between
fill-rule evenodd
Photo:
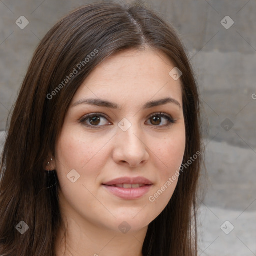
<instances>
[{"instance_id":1,"label":"woman's whole face from hairline to chin, without hair or neck","mask_svg":"<svg viewBox=\"0 0 256 256\"><path fill-rule=\"evenodd\" d=\"M85 79L55 147L62 214L80 226L131 232L165 208L185 150L174 67L160 51L129 49Z\"/></svg>"}]
</instances>

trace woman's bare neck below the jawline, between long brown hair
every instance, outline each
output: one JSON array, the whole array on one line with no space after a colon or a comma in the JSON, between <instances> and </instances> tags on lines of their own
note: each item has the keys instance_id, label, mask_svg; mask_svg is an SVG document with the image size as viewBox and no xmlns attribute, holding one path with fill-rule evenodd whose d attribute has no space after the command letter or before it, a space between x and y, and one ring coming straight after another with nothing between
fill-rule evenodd
<instances>
[{"instance_id":1,"label":"woman's bare neck below the jawline, between long brown hair","mask_svg":"<svg viewBox=\"0 0 256 256\"><path fill-rule=\"evenodd\" d=\"M92 223L75 211L66 212L64 208L61 210L64 223L55 243L56 256L143 256L142 245L148 226L121 233ZM67 229L66 239L64 227Z\"/></svg>"}]
</instances>

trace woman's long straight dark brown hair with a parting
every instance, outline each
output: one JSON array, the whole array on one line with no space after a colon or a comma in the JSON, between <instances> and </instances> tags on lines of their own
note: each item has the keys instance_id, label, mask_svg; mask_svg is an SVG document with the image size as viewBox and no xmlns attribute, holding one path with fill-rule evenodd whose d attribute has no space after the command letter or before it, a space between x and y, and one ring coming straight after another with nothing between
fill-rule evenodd
<instances>
[{"instance_id":1,"label":"woman's long straight dark brown hair with a parting","mask_svg":"<svg viewBox=\"0 0 256 256\"><path fill-rule=\"evenodd\" d=\"M58 21L35 50L7 127L0 169L1 255L55 255L56 234L62 224L59 182L56 171L45 171L43 163L49 155L54 157L69 103L93 68L113 53L128 48L143 50L144 46L161 50L181 70L186 129L183 163L201 152L197 85L172 26L136 2L79 7ZM96 54L86 62L90 52ZM79 63L79 72L65 81ZM197 254L200 163L198 157L181 172L169 203L149 224L144 256ZM25 234L15 228L20 221L29 226Z\"/></svg>"}]
</instances>

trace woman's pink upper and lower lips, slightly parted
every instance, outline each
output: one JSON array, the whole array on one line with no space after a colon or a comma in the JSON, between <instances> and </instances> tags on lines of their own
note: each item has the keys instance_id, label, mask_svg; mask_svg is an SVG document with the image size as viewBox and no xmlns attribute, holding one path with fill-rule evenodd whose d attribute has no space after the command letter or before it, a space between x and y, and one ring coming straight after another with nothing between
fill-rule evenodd
<instances>
[{"instance_id":1,"label":"woman's pink upper and lower lips, slightly parted","mask_svg":"<svg viewBox=\"0 0 256 256\"><path fill-rule=\"evenodd\" d=\"M122 188L116 187L113 185L116 184L144 184L144 186L138 188ZM121 177L116 178L106 183L103 183L102 186L105 187L113 195L125 199L125 200L134 200L143 195L145 195L152 186L152 182L144 177Z\"/></svg>"}]
</instances>

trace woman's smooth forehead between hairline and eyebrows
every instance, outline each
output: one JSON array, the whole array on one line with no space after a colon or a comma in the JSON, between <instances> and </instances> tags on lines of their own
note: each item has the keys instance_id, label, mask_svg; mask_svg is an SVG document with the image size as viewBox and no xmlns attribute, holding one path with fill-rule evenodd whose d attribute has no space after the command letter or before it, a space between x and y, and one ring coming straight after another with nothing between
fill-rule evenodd
<instances>
[{"instance_id":1,"label":"woman's smooth forehead between hairline and eyebrows","mask_svg":"<svg viewBox=\"0 0 256 256\"><path fill-rule=\"evenodd\" d=\"M181 81L169 75L174 67L159 50L128 49L115 53L92 70L72 102L98 97L122 104L170 96L182 105Z\"/></svg>"}]
</instances>

